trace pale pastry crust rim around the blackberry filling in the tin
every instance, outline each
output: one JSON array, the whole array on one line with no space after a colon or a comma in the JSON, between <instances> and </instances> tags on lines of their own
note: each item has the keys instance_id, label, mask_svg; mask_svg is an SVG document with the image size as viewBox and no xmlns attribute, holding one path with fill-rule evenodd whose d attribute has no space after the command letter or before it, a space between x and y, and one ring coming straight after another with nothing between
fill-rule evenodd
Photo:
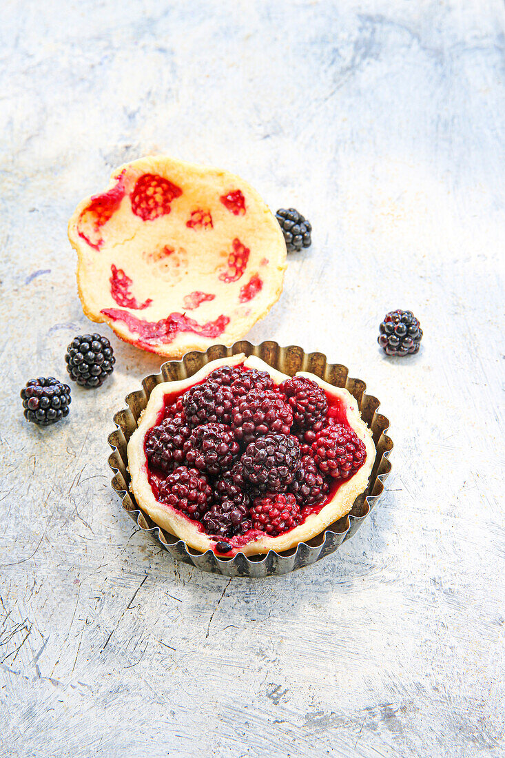
<instances>
[{"instance_id":1,"label":"pale pastry crust rim around the blackberry filling in the tin","mask_svg":"<svg viewBox=\"0 0 505 758\"><path fill-rule=\"evenodd\" d=\"M165 531L170 532L175 537L179 537L189 547L200 550L212 550L215 547L216 539L212 540L209 535L199 531L195 522L191 522L185 516L180 515L176 509L159 503L155 499L147 476L147 460L144 452L144 440L147 432L155 426L158 414L162 410L165 402L165 393L179 393L197 384L205 379L215 368L222 365L243 365L248 368L257 368L260 371L268 371L276 384L287 379L286 374L277 371L270 365L257 358L249 356L246 358L243 353L237 356L217 359L203 366L196 374L187 379L174 382L163 382L158 384L151 393L149 402L140 416L138 428L133 432L127 447L128 468L130 470L131 484L130 489L136 498L136 502L149 514L152 521ZM348 481L340 485L332 500L330 500L320 512L309 515L303 524L281 534L279 537L260 537L252 540L242 547L234 548L226 553L227 556L234 556L237 553L243 553L246 556L253 556L268 553L268 550L281 552L295 547L300 542L316 537L321 534L325 528L336 522L342 516L347 515L353 507L354 500L364 490L369 481L372 472L373 462L375 460L375 445L365 421L359 414L356 399L345 389L334 387L328 384L315 374L299 371L296 376L304 376L312 381L316 381L330 396L334 396L343 402L347 411L347 421L356 432L360 440L365 444L366 459L365 463L356 471Z\"/></svg>"}]
</instances>

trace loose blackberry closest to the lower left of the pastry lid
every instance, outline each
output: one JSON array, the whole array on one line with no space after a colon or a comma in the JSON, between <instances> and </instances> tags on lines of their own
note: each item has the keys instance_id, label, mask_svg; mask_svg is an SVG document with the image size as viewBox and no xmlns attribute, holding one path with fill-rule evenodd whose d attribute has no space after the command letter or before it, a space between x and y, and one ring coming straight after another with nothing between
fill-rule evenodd
<instances>
[{"instance_id":1,"label":"loose blackberry closest to the lower left of the pastry lid","mask_svg":"<svg viewBox=\"0 0 505 758\"><path fill-rule=\"evenodd\" d=\"M67 347L65 361L71 379L81 387L100 387L114 371L116 359L107 337L78 334Z\"/></svg>"}]
</instances>

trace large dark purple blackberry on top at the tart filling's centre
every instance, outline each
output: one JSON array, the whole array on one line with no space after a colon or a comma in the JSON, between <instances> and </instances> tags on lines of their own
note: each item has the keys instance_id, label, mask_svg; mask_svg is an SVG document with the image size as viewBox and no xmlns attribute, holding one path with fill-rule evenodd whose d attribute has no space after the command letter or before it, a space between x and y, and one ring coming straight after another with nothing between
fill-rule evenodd
<instances>
[{"instance_id":1,"label":"large dark purple blackberry on top at the tart filling's centre","mask_svg":"<svg viewBox=\"0 0 505 758\"><path fill-rule=\"evenodd\" d=\"M296 437L267 434L249 443L240 463L243 478L254 487L284 492L300 465L300 444Z\"/></svg>"}]
</instances>

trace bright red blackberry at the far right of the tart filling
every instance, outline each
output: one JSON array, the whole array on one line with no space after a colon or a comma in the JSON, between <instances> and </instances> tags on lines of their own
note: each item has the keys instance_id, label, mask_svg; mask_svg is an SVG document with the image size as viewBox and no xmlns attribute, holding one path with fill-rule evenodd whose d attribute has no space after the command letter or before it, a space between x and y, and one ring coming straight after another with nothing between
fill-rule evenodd
<instances>
[{"instance_id":1,"label":"bright red blackberry at the far right of the tart filling","mask_svg":"<svg viewBox=\"0 0 505 758\"><path fill-rule=\"evenodd\" d=\"M312 456L323 476L348 479L362 467L366 449L353 429L335 424L316 434Z\"/></svg>"}]
</instances>

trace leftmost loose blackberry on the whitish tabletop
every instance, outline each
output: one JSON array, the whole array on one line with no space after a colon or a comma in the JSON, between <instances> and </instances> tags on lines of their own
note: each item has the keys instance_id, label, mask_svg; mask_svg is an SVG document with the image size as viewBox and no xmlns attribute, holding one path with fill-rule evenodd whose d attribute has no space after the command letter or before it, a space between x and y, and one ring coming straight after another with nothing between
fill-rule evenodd
<instances>
[{"instance_id":1,"label":"leftmost loose blackberry on the whitish tabletop","mask_svg":"<svg viewBox=\"0 0 505 758\"><path fill-rule=\"evenodd\" d=\"M24 418L39 426L49 426L68 415L71 389L55 377L38 377L27 381L20 392Z\"/></svg>"}]
</instances>

